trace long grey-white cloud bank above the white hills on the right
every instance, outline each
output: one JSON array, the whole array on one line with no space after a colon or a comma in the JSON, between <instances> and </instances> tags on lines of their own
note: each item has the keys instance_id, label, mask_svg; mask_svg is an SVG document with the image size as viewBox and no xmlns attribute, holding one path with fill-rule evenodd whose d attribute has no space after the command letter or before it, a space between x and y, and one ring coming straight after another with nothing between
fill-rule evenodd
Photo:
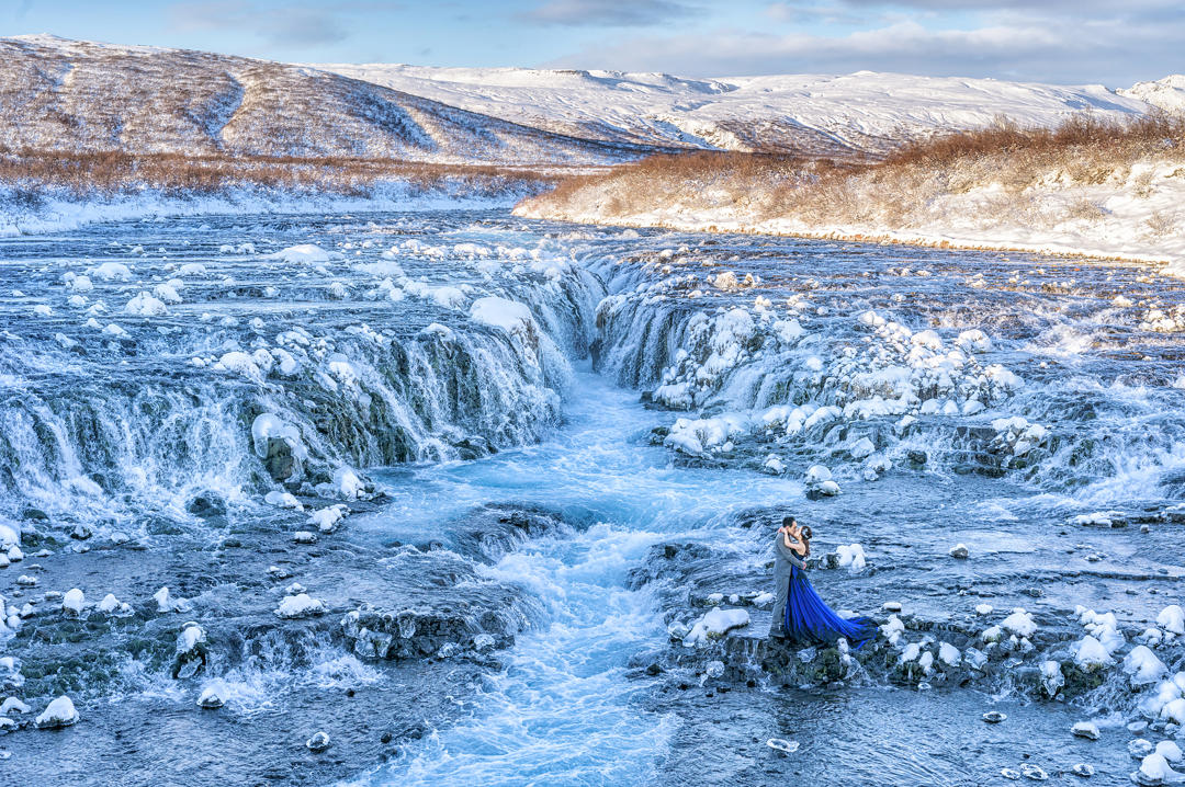
<instances>
[{"instance_id":1,"label":"long grey-white cloud bank above the white hills on the right","mask_svg":"<svg viewBox=\"0 0 1185 787\"><path fill-rule=\"evenodd\" d=\"M1089 1L1089 0L1087 0ZM1071 25L1017 11L992 22L935 30L901 21L821 36L722 30L634 38L549 63L561 67L670 71L688 76L892 71L1032 82L1125 85L1180 69L1185 24ZM1139 52L1139 58L1132 53Z\"/></svg>"}]
</instances>

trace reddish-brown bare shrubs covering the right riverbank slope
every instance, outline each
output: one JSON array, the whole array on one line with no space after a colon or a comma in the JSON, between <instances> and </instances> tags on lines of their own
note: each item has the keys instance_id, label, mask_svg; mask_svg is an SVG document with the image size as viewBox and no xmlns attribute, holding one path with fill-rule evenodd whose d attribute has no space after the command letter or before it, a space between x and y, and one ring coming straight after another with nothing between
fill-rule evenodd
<instances>
[{"instance_id":1,"label":"reddish-brown bare shrubs covering the right riverbank slope","mask_svg":"<svg viewBox=\"0 0 1185 787\"><path fill-rule=\"evenodd\" d=\"M943 198L988 185L984 220L1093 220L1097 206L1038 205L1025 189L1042 179L1098 185L1125 179L1140 161L1185 161L1185 117L1146 115L1128 121L1089 114L1053 129L991 128L904 144L879 159L803 159L743 153L652 156L607 174L574 178L526 204L529 213L604 220L632 214L709 211L722 220L755 224L788 218L807 225L920 226ZM1140 179L1147 180L1144 183ZM1133 178L1151 193L1151 173Z\"/></svg>"}]
</instances>

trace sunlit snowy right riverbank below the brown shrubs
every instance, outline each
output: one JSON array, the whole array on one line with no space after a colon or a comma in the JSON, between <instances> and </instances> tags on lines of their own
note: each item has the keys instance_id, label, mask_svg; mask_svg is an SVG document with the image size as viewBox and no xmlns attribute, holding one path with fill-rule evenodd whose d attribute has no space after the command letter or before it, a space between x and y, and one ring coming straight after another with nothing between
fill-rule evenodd
<instances>
[{"instance_id":1,"label":"sunlit snowy right riverbank below the brown shrubs","mask_svg":"<svg viewBox=\"0 0 1185 787\"><path fill-rule=\"evenodd\" d=\"M1007 166L1005 161L1003 166ZM524 200L519 215L683 231L755 232L942 249L1077 254L1152 262L1185 276L1185 179L1176 159L1148 156L1133 166L1100 169L1087 182L1065 169L1025 173L1033 182L1007 187L987 173L967 187L943 183L950 173L902 179L901 192L872 176L853 176L846 198L867 218L837 221L795 214L793 194L760 183L730 188L690 178L678 188L639 198L622 179L591 182L562 195ZM774 205L790 200L783 214ZM837 206L850 209L848 206Z\"/></svg>"}]
</instances>

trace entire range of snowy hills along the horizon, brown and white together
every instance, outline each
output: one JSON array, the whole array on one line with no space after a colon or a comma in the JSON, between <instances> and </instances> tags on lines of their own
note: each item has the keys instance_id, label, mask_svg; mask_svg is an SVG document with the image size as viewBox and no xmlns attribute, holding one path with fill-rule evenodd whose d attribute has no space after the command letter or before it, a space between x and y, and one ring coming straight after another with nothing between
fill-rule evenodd
<instances>
[{"instance_id":1,"label":"entire range of snowy hills along the horizon, brown and white together","mask_svg":"<svg viewBox=\"0 0 1185 787\"><path fill-rule=\"evenodd\" d=\"M0 38L0 149L502 166L698 148L848 155L1001 116L1053 125L1074 112L1180 105L1181 79L1113 92L867 71L690 79L292 65L31 36Z\"/></svg>"}]
</instances>

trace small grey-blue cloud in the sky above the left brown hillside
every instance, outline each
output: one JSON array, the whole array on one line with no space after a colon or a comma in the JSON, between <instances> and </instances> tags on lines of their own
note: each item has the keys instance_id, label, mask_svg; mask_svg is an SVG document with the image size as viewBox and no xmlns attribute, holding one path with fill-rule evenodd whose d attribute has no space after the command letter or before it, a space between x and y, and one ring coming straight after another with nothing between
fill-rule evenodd
<instances>
[{"instance_id":1,"label":"small grey-blue cloud in the sky above the left brown hillside","mask_svg":"<svg viewBox=\"0 0 1185 787\"><path fill-rule=\"evenodd\" d=\"M223 0L180 2L169 8L182 31L250 32L280 46L337 44L350 38L341 21L324 8L261 7Z\"/></svg>"}]
</instances>

